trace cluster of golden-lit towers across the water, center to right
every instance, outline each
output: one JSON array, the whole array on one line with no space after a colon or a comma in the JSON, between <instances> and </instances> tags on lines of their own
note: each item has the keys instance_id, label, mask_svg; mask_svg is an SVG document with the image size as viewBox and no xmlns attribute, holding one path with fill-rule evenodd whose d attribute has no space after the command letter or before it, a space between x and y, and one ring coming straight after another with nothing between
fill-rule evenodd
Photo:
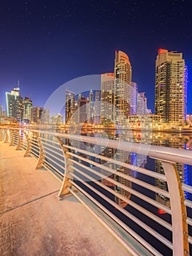
<instances>
[{"instance_id":1,"label":"cluster of golden-lit towers across the water, center to right","mask_svg":"<svg viewBox=\"0 0 192 256\"><path fill-rule=\"evenodd\" d=\"M66 91L66 124L100 123L135 129L183 125L187 120L187 79L183 53L159 49L155 62L155 114L152 114L147 108L145 92L139 92L137 83L132 81L128 56L115 51L114 72L101 75L99 108L96 108L99 91L94 102L93 91L87 99L79 95L77 101L74 92Z\"/></svg>"}]
</instances>

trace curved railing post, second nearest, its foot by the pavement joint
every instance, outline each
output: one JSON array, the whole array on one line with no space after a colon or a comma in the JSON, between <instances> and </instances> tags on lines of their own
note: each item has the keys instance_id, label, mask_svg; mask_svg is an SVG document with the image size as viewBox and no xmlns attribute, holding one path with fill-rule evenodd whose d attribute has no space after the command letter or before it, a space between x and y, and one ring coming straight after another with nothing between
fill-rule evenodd
<instances>
[{"instance_id":1,"label":"curved railing post, second nearest, its foot by the pavement joint","mask_svg":"<svg viewBox=\"0 0 192 256\"><path fill-rule=\"evenodd\" d=\"M72 195L72 193L69 192L67 187L70 187L70 189L72 189L72 183L70 180L72 180L73 177L70 174L70 172L73 173L73 169L72 167L69 166L70 164L72 164L69 162L69 159L71 158L71 156L68 154L69 149L64 146L64 142L59 137L57 137L57 140L64 152L64 160L65 160L64 180L62 182L61 189L58 192L58 197L60 197L61 199L64 199L65 197L69 197L69 195Z\"/></svg>"}]
</instances>

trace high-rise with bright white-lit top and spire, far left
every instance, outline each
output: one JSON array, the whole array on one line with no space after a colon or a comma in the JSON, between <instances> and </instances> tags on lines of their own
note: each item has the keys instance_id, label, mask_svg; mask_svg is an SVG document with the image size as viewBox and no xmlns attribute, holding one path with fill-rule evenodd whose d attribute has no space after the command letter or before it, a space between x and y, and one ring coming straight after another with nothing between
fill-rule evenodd
<instances>
[{"instance_id":1,"label":"high-rise with bright white-lit top and spire, far left","mask_svg":"<svg viewBox=\"0 0 192 256\"><path fill-rule=\"evenodd\" d=\"M19 87L11 92L6 92L7 116L12 116L18 121L23 119L23 98L20 96Z\"/></svg>"}]
</instances>

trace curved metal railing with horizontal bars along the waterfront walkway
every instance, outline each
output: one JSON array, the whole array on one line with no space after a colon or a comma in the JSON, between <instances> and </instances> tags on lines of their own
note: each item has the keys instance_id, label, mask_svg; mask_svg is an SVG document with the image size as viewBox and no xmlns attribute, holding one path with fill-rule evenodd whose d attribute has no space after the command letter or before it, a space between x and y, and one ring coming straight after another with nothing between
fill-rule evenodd
<instances>
[{"instance_id":1,"label":"curved metal railing with horizontal bars along the waterfront walkway","mask_svg":"<svg viewBox=\"0 0 192 256\"><path fill-rule=\"evenodd\" d=\"M5 127L0 140L36 157L37 169L61 181L58 196L77 197L133 255L190 255L192 187L177 163L192 165L191 151ZM161 172L133 165L130 152L155 159Z\"/></svg>"}]
</instances>

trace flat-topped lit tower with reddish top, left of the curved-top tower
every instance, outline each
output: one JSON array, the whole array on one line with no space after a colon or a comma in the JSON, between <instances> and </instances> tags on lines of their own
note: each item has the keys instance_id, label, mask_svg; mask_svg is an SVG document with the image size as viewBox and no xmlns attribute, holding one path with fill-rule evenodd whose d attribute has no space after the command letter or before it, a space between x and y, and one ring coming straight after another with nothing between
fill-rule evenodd
<instances>
[{"instance_id":1,"label":"flat-topped lit tower with reddish top, left of the curved-top tower","mask_svg":"<svg viewBox=\"0 0 192 256\"><path fill-rule=\"evenodd\" d=\"M114 73L101 75L101 123L115 120L115 83Z\"/></svg>"}]
</instances>

